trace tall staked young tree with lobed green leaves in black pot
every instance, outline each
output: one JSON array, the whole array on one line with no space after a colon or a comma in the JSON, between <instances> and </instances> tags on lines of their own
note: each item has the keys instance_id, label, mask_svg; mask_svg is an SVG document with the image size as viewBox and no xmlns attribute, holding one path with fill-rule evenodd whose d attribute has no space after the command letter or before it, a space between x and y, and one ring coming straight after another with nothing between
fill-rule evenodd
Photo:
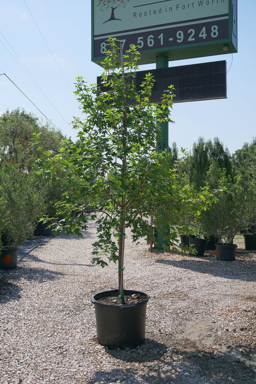
<instances>
[{"instance_id":1,"label":"tall staked young tree with lobed green leaves in black pot","mask_svg":"<svg viewBox=\"0 0 256 384\"><path fill-rule=\"evenodd\" d=\"M65 225L59 222L55 231L81 236L88 220L96 220L98 237L93 244L92 263L102 268L109 262L118 266L118 289L97 293L91 299L97 339L109 348L124 348L144 341L149 300L146 293L124 289L126 228L131 228L134 242L141 238L145 243L147 238L156 241L149 225L153 216L154 228L165 233L168 227L164 249L177 250L178 233L189 230L180 217L200 210L213 196L206 190L200 195L189 191L181 182L178 164L170 166L170 154L157 150L159 124L170 121L172 86L163 96L162 105L150 103L152 75L146 75L139 90L133 81L139 55L136 47L130 47L124 56L126 73L117 62L119 47L113 39L108 47L102 63L106 91L96 84L88 87L81 77L76 84L75 94L86 114L84 121L75 119L73 123L79 129L81 147L66 142L59 155L46 161L44 170L54 177L56 171L63 174L75 185L77 197L90 201L96 209L91 217L78 215L70 220L71 211L84 208L84 204L78 207L76 199L63 195L56 204L57 215L67 219Z\"/></svg>"}]
</instances>

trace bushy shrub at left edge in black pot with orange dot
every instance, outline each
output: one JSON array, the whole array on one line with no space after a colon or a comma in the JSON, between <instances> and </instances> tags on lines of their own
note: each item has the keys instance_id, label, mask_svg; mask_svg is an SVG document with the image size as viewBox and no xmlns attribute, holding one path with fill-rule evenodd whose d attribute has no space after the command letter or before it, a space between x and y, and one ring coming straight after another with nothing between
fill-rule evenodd
<instances>
[{"instance_id":1,"label":"bushy shrub at left edge in black pot with orange dot","mask_svg":"<svg viewBox=\"0 0 256 384\"><path fill-rule=\"evenodd\" d=\"M36 218L43 213L43 195L36 188L35 175L26 175L17 166L0 169L2 233L5 243L0 268L17 266L18 245L33 235Z\"/></svg>"}]
</instances>

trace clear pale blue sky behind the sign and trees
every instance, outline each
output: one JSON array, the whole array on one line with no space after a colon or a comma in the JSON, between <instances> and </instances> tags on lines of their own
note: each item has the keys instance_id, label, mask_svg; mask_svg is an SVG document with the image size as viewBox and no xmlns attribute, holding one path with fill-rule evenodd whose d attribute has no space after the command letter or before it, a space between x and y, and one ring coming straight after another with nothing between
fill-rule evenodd
<instances>
[{"instance_id":1,"label":"clear pale blue sky behind the sign and trees","mask_svg":"<svg viewBox=\"0 0 256 384\"><path fill-rule=\"evenodd\" d=\"M175 124L169 126L169 144L176 141L178 148L191 149L199 136L218 136L232 154L256 136L255 18L256 1L238 0L238 53L233 54L232 65L231 55L169 62L169 66L176 66L226 60L227 68L231 65L227 99L173 105ZM76 140L70 124L73 116L81 117L73 94L76 77L83 76L90 84L102 73L101 67L91 62L91 1L2 0L0 73L5 73L64 134ZM17 107L42 116L10 80L0 76L0 114Z\"/></svg>"}]
</instances>

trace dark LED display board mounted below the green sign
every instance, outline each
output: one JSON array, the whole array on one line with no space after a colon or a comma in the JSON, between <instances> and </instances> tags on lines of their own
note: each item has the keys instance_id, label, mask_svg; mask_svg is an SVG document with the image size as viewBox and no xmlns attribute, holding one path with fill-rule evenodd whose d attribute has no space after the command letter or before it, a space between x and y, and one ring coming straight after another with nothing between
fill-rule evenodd
<instances>
[{"instance_id":1,"label":"dark LED display board mounted below the green sign","mask_svg":"<svg viewBox=\"0 0 256 384\"><path fill-rule=\"evenodd\" d=\"M161 97L169 85L173 85L175 88L173 91L174 103L226 99L227 97L225 60L138 71L135 77L138 90L148 72L152 73L155 79L150 97L152 103L161 103ZM110 89L101 82L101 76L97 76L97 84L101 91L109 91ZM134 104L134 101L131 101L130 104Z\"/></svg>"}]
</instances>

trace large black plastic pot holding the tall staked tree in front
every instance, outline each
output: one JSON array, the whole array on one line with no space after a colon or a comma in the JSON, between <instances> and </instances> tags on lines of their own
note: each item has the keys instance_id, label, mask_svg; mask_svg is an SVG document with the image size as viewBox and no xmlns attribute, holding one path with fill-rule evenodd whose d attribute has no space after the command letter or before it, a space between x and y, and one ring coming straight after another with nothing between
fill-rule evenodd
<instances>
[{"instance_id":1,"label":"large black plastic pot holding the tall staked tree in front","mask_svg":"<svg viewBox=\"0 0 256 384\"><path fill-rule=\"evenodd\" d=\"M108 348L133 348L145 340L146 309L149 295L139 291L124 290L124 295L141 293L147 298L140 303L130 305L107 305L97 300L118 290L100 292L91 298L96 317L97 339Z\"/></svg>"}]
</instances>

